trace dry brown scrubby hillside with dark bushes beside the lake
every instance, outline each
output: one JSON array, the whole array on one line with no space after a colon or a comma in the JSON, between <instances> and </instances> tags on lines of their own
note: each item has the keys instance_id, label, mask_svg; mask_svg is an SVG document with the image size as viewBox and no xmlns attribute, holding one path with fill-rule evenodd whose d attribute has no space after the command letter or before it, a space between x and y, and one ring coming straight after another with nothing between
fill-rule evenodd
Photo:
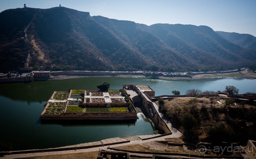
<instances>
[{"instance_id":1,"label":"dry brown scrubby hillside with dark bushes beside the lake","mask_svg":"<svg viewBox=\"0 0 256 159\"><path fill-rule=\"evenodd\" d=\"M188 101L195 99L195 107ZM227 106L226 109L221 102L222 98L214 97L213 104L210 98L174 98L172 100L164 100L164 107L167 109L165 115L184 133L183 140L189 143L213 142L210 131L218 134L216 126L225 125L220 133L220 138L215 137L214 140L225 142L239 142L246 144L248 139L255 140L256 130L256 105L253 101L235 100L233 105ZM211 107L213 105L213 107ZM187 114L191 114L191 118L185 118ZM193 119L195 123L191 122ZM189 122L184 122L188 119ZM191 129L186 130L189 125ZM194 124L194 125L193 125ZM218 127L219 128L219 127ZM209 131L210 130L210 131ZM215 141L216 142L216 141Z\"/></svg>"}]
</instances>

